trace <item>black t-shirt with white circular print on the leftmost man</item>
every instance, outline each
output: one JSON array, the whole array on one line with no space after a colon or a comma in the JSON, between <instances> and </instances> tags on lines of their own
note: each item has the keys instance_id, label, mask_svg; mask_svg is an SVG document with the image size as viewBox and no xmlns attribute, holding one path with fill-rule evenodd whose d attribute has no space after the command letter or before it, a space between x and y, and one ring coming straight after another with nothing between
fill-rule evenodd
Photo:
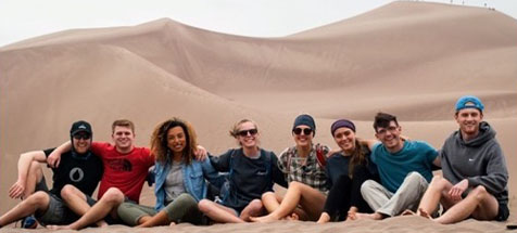
<instances>
[{"instance_id":1,"label":"black t-shirt with white circular print on the leftmost man","mask_svg":"<svg viewBox=\"0 0 517 233\"><path fill-rule=\"evenodd\" d=\"M48 157L54 150L45 150L45 155ZM61 197L61 189L66 184L72 184L86 195L91 196L102 178L103 166L101 158L94 154L74 156L72 152L67 152L61 156L60 166L52 168L52 171L51 193Z\"/></svg>"}]
</instances>

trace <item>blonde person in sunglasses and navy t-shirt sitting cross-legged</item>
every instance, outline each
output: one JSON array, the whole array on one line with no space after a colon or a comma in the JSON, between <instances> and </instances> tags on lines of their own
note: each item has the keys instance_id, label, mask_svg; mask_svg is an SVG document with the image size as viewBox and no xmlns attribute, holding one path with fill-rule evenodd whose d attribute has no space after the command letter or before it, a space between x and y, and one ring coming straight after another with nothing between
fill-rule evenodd
<instances>
[{"instance_id":1,"label":"blonde person in sunglasses and navy t-shirt sitting cross-legged","mask_svg":"<svg viewBox=\"0 0 517 233\"><path fill-rule=\"evenodd\" d=\"M216 170L229 173L228 185L222 190L223 199L199 203L200 210L215 222L245 222L250 217L263 215L262 194L272 191L274 182L286 186L277 156L258 146L260 132L254 121L238 121L230 135L240 147L211 157Z\"/></svg>"}]
</instances>

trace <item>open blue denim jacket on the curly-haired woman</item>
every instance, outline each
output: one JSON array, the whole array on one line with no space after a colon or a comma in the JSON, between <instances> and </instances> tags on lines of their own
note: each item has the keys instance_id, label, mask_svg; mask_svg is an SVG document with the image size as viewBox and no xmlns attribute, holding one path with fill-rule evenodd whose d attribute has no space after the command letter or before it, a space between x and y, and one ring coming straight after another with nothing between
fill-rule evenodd
<instances>
[{"instance_id":1,"label":"open blue denim jacket on the curly-haired woman","mask_svg":"<svg viewBox=\"0 0 517 233\"><path fill-rule=\"evenodd\" d=\"M156 161L154 166L154 195L156 195L156 205L154 208L160 211L165 206L165 180L171 171L171 161L165 164ZM199 202L206 197L209 182L216 186L220 186L225 179L212 167L209 158L203 161L192 159L190 165L181 164L181 172L184 174L184 185L188 194ZM206 179L206 180L205 180Z\"/></svg>"}]
</instances>

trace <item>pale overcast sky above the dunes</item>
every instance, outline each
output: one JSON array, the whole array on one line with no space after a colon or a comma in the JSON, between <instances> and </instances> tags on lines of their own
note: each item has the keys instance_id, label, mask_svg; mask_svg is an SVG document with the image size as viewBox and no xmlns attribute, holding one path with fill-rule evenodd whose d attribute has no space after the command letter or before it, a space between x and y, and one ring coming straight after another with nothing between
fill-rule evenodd
<instances>
[{"instance_id":1,"label":"pale overcast sky above the dunes","mask_svg":"<svg viewBox=\"0 0 517 233\"><path fill-rule=\"evenodd\" d=\"M437 1L437 0L434 0ZM210 30L280 37L364 13L390 0L0 0L0 47L73 28L131 26L162 17ZM451 3L451 0L438 2ZM453 0L517 18L515 0Z\"/></svg>"}]
</instances>

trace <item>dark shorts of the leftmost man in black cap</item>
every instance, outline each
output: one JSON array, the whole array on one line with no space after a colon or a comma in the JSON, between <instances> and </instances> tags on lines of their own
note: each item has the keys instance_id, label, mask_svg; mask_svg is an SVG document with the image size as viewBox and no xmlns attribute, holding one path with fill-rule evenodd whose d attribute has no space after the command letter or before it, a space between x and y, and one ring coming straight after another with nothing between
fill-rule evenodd
<instances>
[{"instance_id":1,"label":"dark shorts of the leftmost man in black cap","mask_svg":"<svg viewBox=\"0 0 517 233\"><path fill-rule=\"evenodd\" d=\"M74 211L66 207L63 199L61 199L53 193L48 192L47 194L49 195L49 207L47 208L47 211L45 211L42 215L35 216L40 224L62 225L70 224L79 219L79 217L75 215ZM86 202L88 203L88 205L92 206L96 200L90 196L86 195Z\"/></svg>"}]
</instances>

